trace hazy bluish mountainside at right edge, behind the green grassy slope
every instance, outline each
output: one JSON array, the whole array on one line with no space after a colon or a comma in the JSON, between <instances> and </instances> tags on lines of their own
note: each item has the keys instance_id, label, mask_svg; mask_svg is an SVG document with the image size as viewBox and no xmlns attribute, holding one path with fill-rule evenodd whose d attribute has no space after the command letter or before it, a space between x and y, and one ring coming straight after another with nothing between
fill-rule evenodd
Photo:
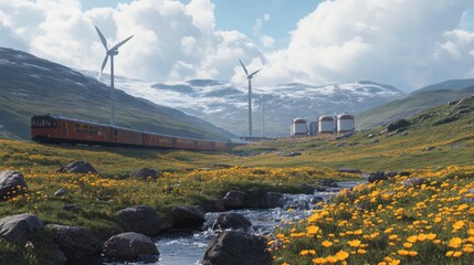
<instances>
[{"instance_id":1,"label":"hazy bluish mountainside at right edge, behind the green grassy slope","mask_svg":"<svg viewBox=\"0 0 474 265\"><path fill-rule=\"evenodd\" d=\"M368 129L392 120L408 118L425 108L440 106L474 94L474 80L452 80L414 91L404 98L373 107L356 115L356 127Z\"/></svg>"}]
</instances>

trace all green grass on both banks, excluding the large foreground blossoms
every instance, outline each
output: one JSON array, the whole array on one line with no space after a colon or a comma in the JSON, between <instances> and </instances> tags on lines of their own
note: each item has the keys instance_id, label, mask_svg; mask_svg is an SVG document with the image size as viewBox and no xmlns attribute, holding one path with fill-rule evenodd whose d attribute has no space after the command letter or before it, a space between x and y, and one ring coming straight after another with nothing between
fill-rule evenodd
<instances>
[{"instance_id":1,"label":"all green grass on both banks, excluding the large foreground blossoms","mask_svg":"<svg viewBox=\"0 0 474 265\"><path fill-rule=\"evenodd\" d=\"M329 204L324 210L327 213L323 219L302 220L297 225L283 229L281 233L284 234L284 237L282 240L289 242L285 243L287 244L285 251L274 248L275 263L312 264L317 257L330 262L330 258L327 259L327 257L336 256L343 250L349 254L346 257L347 261L350 261L349 264L373 264L375 262L389 264L389 262L397 259L410 264L411 262L414 262L413 264L421 264L422 262L430 264L426 261L431 259L417 258L425 256L428 251L435 252L434 256L439 258L447 258L445 255L451 250L453 251L452 255L460 252L461 248L450 248L449 246L449 241L453 239L449 237L447 234L447 231L452 232L450 225L462 221L459 219L461 216L468 218L463 221L465 222L463 227L470 226L473 222L470 213L466 213L466 209L460 213L457 213L459 210L454 209L454 204L462 204L461 194L459 194L460 189L473 188L474 117L472 110L474 110L474 100L428 109L410 119L411 125L407 128L407 135L401 132L392 136L380 134L383 130L380 127L359 132L349 138L325 136L278 139L236 147L229 152L48 146L0 139L0 171L17 170L22 172L29 186L24 195L0 202L0 216L24 212L34 213L45 223L82 225L89 229L101 240L106 240L112 234L123 230L116 220L115 212L131 205L150 205L158 210L160 218L165 219L175 205L199 205L208 200L221 198L229 190L247 191L261 187L271 191L299 192L299 184L302 183L315 184L320 179L357 178L337 172L336 169L340 167L359 168L365 172L409 170L418 172L418 176L429 178L429 184L409 192L400 191L398 189L403 179L397 178L377 186L361 187L354 193L345 193L336 200L336 204ZM369 138L369 135L373 135L373 137ZM434 148L425 150L426 147ZM284 156L293 151L298 151L302 155L297 157ZM97 169L98 174L56 172L61 166L74 160L91 162ZM213 165L229 165L231 168L218 168ZM162 176L157 180L146 181L137 181L128 177L129 172L143 167L160 170ZM444 189L441 183L449 183L451 189ZM66 195L55 197L54 192L57 189L66 190ZM399 192L404 192L404 197L392 198ZM372 202L372 198L368 194L376 193L375 202ZM442 205L441 209L438 208L438 204L430 204L432 202L426 201L438 193L440 198L444 198L444 201L435 201ZM462 194L464 195L464 193ZM357 215L356 220L354 205L360 204L362 200L365 205L370 206L370 210ZM426 208L417 209L415 203L419 202L425 203ZM77 213L61 210L63 205L71 203L77 204L83 210ZM381 209L378 209L379 204L382 205ZM403 212L404 215L401 220L397 220L399 215L393 215L397 212L393 210L400 208L404 208L407 211ZM412 208L414 210L410 210ZM370 219L365 214L368 214ZM415 225L413 222L418 220L431 222L424 216L434 218L438 214L444 214L446 219L436 224L438 226L429 224L432 225L431 232L436 231L436 239L441 241L440 245L432 248L431 245L425 246L423 243L420 246L412 246L413 251L418 252L414 256L403 255L404 252L399 254L400 244L404 243L408 236L414 233L417 235L429 233L425 229L421 232L409 226ZM339 225L338 223L344 220L347 222ZM362 226L368 220L371 220L370 226ZM390 234L385 233L385 230L389 229L389 224L393 226L394 231ZM312 225L318 226L322 231L320 234L314 234L316 237L306 239L305 234L304 239L297 237L295 240L291 236L295 232L298 234L306 233L306 229ZM403 225L409 230L403 231ZM439 231L440 227L442 230L444 226L446 231ZM340 236L339 233L345 233L340 232L341 230L348 231L349 229L352 232L362 229L361 239L338 237ZM370 229L371 234L367 234L366 229ZM376 236L377 239L375 237L373 241L364 237L364 235L370 236L381 230L383 233L379 232L380 237ZM470 237L466 237L468 231L461 232L457 230L459 233L452 235L463 240L462 247L467 247L467 252L470 251L468 244L471 244L467 242L471 241ZM392 242L390 236L396 232L397 239L400 241ZM42 261L46 261L48 256L51 255L50 248L44 244L45 237L48 235L43 232L34 236L33 244L38 246L34 252L27 250L23 245L0 240L0 263L42 264ZM336 237L339 242L335 242ZM278 239L278 235L275 235L275 239ZM359 247L362 251L352 250L347 247L349 240L360 240L361 244L367 244L367 246ZM333 246L320 246L324 241L331 242ZM380 253L376 252L376 248L381 248ZM316 254L312 254L313 251L310 250ZM356 254L352 254L354 251ZM302 255L302 252L306 254ZM360 254L359 252L366 253ZM343 257L346 254L339 253L338 255ZM460 254L456 253L455 255ZM450 262L460 264L456 262L463 262L463 258L468 255L471 254L463 250L459 256L461 258L443 261L447 264ZM389 261L389 258L391 259Z\"/></svg>"}]
</instances>

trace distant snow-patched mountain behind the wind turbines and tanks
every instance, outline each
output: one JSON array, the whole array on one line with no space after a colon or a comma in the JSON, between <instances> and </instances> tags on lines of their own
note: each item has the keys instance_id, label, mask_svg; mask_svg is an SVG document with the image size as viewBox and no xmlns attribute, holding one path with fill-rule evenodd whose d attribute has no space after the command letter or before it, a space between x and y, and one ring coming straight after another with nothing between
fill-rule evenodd
<instances>
[{"instance_id":1,"label":"distant snow-patched mountain behind the wind turbines and tanks","mask_svg":"<svg viewBox=\"0 0 474 265\"><path fill-rule=\"evenodd\" d=\"M96 73L85 72L89 76ZM103 78L108 82L107 77ZM214 80L187 82L144 82L117 77L124 92L178 108L239 135L247 134L247 87ZM301 83L253 87L253 135L262 135L262 97L265 100L265 136L288 136L293 118L308 121L323 114L345 110L356 114L404 96L389 85L361 81L323 86Z\"/></svg>"}]
</instances>

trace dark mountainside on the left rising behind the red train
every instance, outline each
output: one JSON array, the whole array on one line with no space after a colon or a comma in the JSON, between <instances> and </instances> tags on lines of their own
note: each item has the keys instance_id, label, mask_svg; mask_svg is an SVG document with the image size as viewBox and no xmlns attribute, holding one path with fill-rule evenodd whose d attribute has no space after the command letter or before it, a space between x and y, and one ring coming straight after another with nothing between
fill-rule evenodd
<instances>
[{"instance_id":1,"label":"dark mountainside on the left rising behind the red train","mask_svg":"<svg viewBox=\"0 0 474 265\"><path fill-rule=\"evenodd\" d=\"M203 139L232 134L180 110L122 91L117 126ZM56 114L108 124L109 87L95 78L12 49L0 47L0 137L30 138L33 115Z\"/></svg>"}]
</instances>

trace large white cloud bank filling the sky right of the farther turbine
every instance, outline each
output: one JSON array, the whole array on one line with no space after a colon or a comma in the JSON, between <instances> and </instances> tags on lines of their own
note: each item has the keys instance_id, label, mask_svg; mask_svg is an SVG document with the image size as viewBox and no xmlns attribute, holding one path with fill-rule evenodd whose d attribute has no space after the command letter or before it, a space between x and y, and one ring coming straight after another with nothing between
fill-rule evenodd
<instances>
[{"instance_id":1,"label":"large white cloud bank filling the sky right of the farther turbine","mask_svg":"<svg viewBox=\"0 0 474 265\"><path fill-rule=\"evenodd\" d=\"M412 89L464 77L473 68L474 33L460 30L459 24L473 3L324 1L297 23L286 49L267 55L259 81L271 84L272 72L277 72L283 75L278 80L373 80Z\"/></svg>"}]
</instances>

